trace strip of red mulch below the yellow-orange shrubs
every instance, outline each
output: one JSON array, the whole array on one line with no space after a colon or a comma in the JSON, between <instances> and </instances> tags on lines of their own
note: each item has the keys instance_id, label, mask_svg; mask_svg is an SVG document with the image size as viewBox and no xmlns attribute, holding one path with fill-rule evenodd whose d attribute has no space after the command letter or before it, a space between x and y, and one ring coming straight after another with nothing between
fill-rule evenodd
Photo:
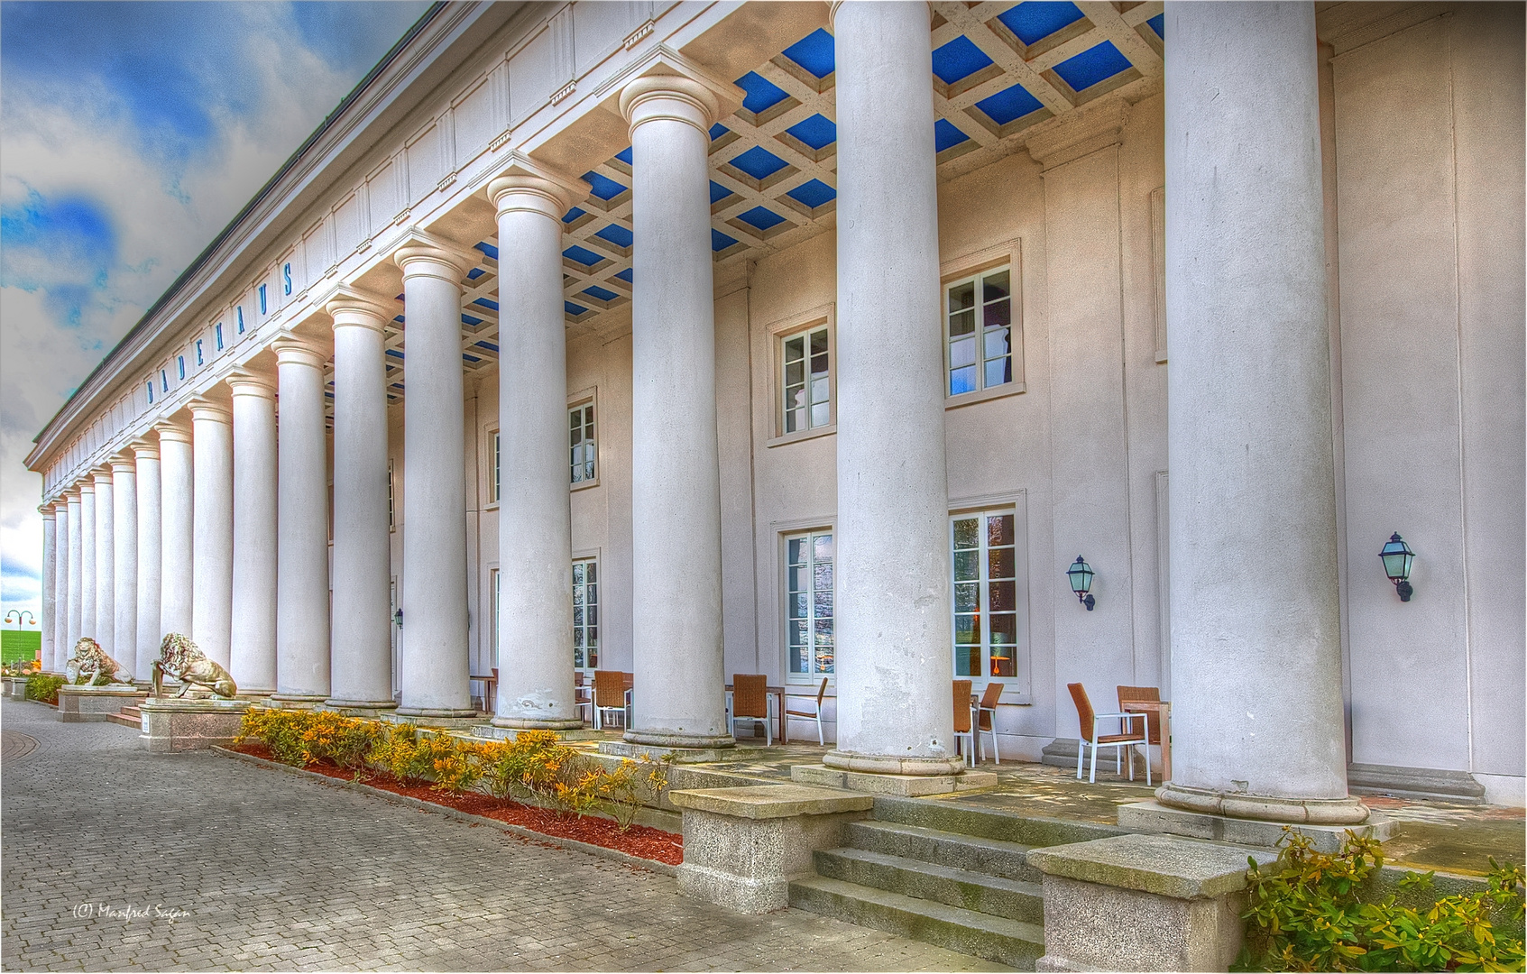
<instances>
[{"instance_id":1,"label":"strip of red mulch below the yellow-orange shrubs","mask_svg":"<svg viewBox=\"0 0 1527 974\"><path fill-rule=\"evenodd\" d=\"M253 740L235 745L232 750L253 757L275 760L270 754L270 748ZM356 779L353 771L334 766L328 762L308 765L307 771L316 771L318 774L342 779L345 782ZM591 846L603 846L605 849L618 849L628 855L667 863L669 866L678 866L684 861L684 837L675 835L673 832L664 832L647 826L631 826L621 832L620 826L608 818L597 818L594 815L563 815L551 809L519 805L518 801L499 801L498 798L476 792L452 795L449 792L435 791L429 785L405 785L391 774L379 771L370 772L360 780L365 785L380 788L382 791L391 791L395 795L406 795L409 798L443 805L469 815L496 818L498 821L507 821L510 824L521 826L522 829L541 832L542 835L556 835L557 838L571 838Z\"/></svg>"}]
</instances>

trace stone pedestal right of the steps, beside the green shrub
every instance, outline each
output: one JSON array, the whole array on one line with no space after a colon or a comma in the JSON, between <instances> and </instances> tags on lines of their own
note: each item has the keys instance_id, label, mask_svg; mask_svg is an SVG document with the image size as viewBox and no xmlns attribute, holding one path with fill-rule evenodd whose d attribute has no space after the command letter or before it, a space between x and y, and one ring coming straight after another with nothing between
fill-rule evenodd
<instances>
[{"instance_id":1,"label":"stone pedestal right of the steps, beside the green shrub","mask_svg":"<svg viewBox=\"0 0 1527 974\"><path fill-rule=\"evenodd\" d=\"M1246 860L1270 849L1115 835L1032 849L1044 873L1038 971L1226 971L1245 939Z\"/></svg>"}]
</instances>

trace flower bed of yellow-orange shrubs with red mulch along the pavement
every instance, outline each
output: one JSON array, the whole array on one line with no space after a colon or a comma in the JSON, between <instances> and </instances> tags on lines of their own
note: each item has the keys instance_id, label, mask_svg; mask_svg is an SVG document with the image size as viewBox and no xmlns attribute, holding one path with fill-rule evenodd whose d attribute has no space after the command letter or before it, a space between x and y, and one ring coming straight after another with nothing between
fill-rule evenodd
<instances>
[{"instance_id":1,"label":"flower bed of yellow-orange shrubs with red mulch along the pavement","mask_svg":"<svg viewBox=\"0 0 1527 974\"><path fill-rule=\"evenodd\" d=\"M631 823L641 792L666 786L663 766L649 766L646 777L638 776L640 766L634 762L603 771L545 731L522 733L513 743L484 745L418 731L406 724L385 725L325 713L250 711L244 737L234 750L542 835L669 866L684 860L680 835ZM551 808L516 801L512 795ZM600 812L614 818L600 817Z\"/></svg>"}]
</instances>

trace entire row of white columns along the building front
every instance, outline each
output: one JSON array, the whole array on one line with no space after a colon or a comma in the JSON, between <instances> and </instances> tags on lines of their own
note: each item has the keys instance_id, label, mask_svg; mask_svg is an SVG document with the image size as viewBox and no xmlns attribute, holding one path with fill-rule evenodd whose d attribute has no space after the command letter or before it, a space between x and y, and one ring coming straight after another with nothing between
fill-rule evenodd
<instances>
[{"instance_id":1,"label":"entire row of white columns along the building front","mask_svg":"<svg viewBox=\"0 0 1527 974\"><path fill-rule=\"evenodd\" d=\"M1267 798L1258 814L1307 815L1301 803L1318 800L1327 803L1321 814L1353 820L1362 806L1347 798L1341 757L1313 12L1309 5L1266 12L1174 3L1168 11L1180 771L1162 800L1225 811L1225 795L1251 782ZM1257 44L1222 43L1240 32ZM950 774L959 759L948 692L927 8L838 3L834 34L838 740L825 762ZM1252 64L1249 53L1266 56ZM707 153L709 130L730 114L738 90L687 63L654 61L638 75L618 101L632 145L635 227L635 695L626 739L725 747ZM1222 90L1226 102L1211 107ZM1205 92L1214 98L1199 99ZM1255 151L1266 163L1226 173L1209 163L1222 145ZM1267 177L1278 171L1290 176ZM579 725L560 249L562 215L586 192L582 180L519 153L487 182L501 253L495 710L505 727ZM1257 240L1277 246L1251 253L1225 232L1225 212L1263 227ZM460 313L463 278L476 260L418 231L395 244L392 260L403 279L408 356L400 699L392 696L383 348L395 304L348 285L324 304L334 362L331 562L327 348L282 333L272 343L273 377L228 379L191 402L189 427L159 423L157 437L134 443L131 456L113 458L108 472L93 472L53 502L44 605L55 669L79 635L95 635L145 676L157 634L189 631L241 689L276 699L399 707L418 718L472 713ZM1237 327L1246 314L1257 316L1257 328ZM1280 359L1275 371L1266 369L1270 356ZM1269 539L1280 547L1269 551ZM1258 565L1278 557L1281 568L1274 577L1241 574L1223 563L1232 556ZM1223 658L1225 632L1237 634L1234 661ZM1296 687L1281 681L1275 670L1289 653L1318 678ZM1248 681L1248 672L1266 679ZM1254 699L1241 701L1246 693ZM1249 725L1219 724L1226 699L1238 701L1232 711L1257 711L1261 739Z\"/></svg>"}]
</instances>

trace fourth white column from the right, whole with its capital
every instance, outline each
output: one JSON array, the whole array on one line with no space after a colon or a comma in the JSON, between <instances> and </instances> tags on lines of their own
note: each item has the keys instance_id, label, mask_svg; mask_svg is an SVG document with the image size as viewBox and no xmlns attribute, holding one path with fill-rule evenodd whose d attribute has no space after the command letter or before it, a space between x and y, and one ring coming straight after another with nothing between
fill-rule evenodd
<instances>
[{"instance_id":1,"label":"fourth white column from the right, whole with its capital","mask_svg":"<svg viewBox=\"0 0 1527 974\"><path fill-rule=\"evenodd\" d=\"M498 206L498 716L576 728L562 214L571 180L531 163L489 183Z\"/></svg>"}]
</instances>

